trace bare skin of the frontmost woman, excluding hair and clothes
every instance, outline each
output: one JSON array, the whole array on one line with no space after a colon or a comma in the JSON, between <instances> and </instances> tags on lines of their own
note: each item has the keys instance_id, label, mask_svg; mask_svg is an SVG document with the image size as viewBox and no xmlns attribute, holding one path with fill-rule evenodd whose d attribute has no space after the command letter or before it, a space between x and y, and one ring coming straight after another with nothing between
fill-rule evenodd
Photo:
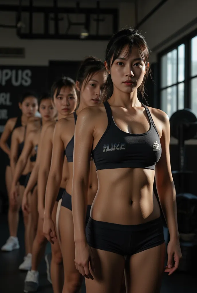
<instances>
[{"instance_id":1,"label":"bare skin of the frontmost woman, excluding hair and clothes","mask_svg":"<svg viewBox=\"0 0 197 293\"><path fill-rule=\"evenodd\" d=\"M127 47L120 53L108 72L113 82L113 94L108 103L117 128L125 133L142 134L150 129L150 120L145 108L137 98L137 88L142 84L149 64L145 65L137 47L133 47L129 56L126 56L126 52L128 52ZM108 70L108 64L105 64ZM128 80L129 82L126 82ZM98 170L96 172L98 191L92 204L91 218L100 222L122 225L138 225L159 218L159 204L153 193L155 176L159 200L167 220L171 239L168 244L169 265L172 264L173 255L175 257L175 266L170 266L168 271L171 274L179 265L181 251L176 218L176 193L169 156L169 118L159 109L149 107L149 110L159 133L162 148L162 155L155 166L155 171L143 168ZM107 126L106 110L101 104L83 109L78 115L75 127L74 184L72 186L75 264L79 272L86 277L87 293L118 292L121 277L117 278L116 284L114 283L117 286L113 284L112 280L115 276L121 276L124 270L124 258L121 255L89 247L85 234L84 219L88 198L90 155L105 133ZM107 133L105 135L107 137ZM152 271L153 275L155 272L155 277L152 278L150 290L147 292L158 292L158 289L153 288L161 280L164 249L163 243L147 251L136 253L135 257L132 255L129 260L129 292L137 292L137 285L140 285L139 275L132 278L135 275L133 270L135 270L136 263L142 265L142 255L147 258L143 272L147 276L149 276L147 266L150 265L153 255L155 256L154 270ZM140 265L137 269L138 273ZM113 275L112 269L114 269L115 275ZM158 277L156 273L159 274ZM149 278L150 276L146 277L145 285L148 284ZM94 281L92 281L93 279ZM132 281L134 285L131 285ZM157 284L157 286L159 285ZM142 286L139 292L145 292L144 290L145 288Z\"/></svg>"}]
</instances>

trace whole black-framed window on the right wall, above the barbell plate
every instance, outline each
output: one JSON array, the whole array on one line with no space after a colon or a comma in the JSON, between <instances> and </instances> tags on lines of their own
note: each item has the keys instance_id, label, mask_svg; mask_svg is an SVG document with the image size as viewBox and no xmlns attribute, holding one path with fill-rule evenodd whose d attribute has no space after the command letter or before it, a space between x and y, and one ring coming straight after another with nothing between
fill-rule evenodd
<instances>
[{"instance_id":1,"label":"whole black-framed window on the right wall, above the barbell plate","mask_svg":"<svg viewBox=\"0 0 197 293\"><path fill-rule=\"evenodd\" d=\"M160 108L169 117L191 108L197 116L197 32L159 54Z\"/></svg>"}]
</instances>

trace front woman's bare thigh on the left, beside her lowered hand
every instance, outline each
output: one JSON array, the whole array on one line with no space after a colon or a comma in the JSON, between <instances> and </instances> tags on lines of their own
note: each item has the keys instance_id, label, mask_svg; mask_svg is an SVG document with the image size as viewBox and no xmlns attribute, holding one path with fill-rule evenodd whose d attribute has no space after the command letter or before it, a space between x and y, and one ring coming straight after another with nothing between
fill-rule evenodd
<instances>
[{"instance_id":1,"label":"front woman's bare thigh on the left, beside her lowered hand","mask_svg":"<svg viewBox=\"0 0 197 293\"><path fill-rule=\"evenodd\" d=\"M85 279L87 293L119 293L125 267L125 259L117 253L91 248L94 255L95 272L90 268L94 280Z\"/></svg>"}]
</instances>

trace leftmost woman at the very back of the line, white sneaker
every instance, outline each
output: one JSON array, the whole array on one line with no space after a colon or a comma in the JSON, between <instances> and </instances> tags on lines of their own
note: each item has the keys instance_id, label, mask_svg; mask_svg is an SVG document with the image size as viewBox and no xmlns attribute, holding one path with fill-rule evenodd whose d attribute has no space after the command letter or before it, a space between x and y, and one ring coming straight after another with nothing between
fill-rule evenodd
<instances>
[{"instance_id":1,"label":"leftmost woman at the very back of the line, white sneaker","mask_svg":"<svg viewBox=\"0 0 197 293\"><path fill-rule=\"evenodd\" d=\"M9 166L6 168L6 185L8 190L9 197L9 210L8 210L8 225L9 225L9 233L10 237L7 240L6 244L2 246L2 251L12 251L13 249L18 249L18 238L17 238L17 229L18 229L18 211L21 207L22 196L24 192L24 176L21 176L19 180L19 193L20 196L17 200L13 200L11 198L10 189L12 183L12 174L14 173L14 169L16 166L16 162L18 157L20 156L24 139L26 134L26 126L35 117L35 113L38 110L38 97L35 93L24 93L19 101L19 108L21 109L22 115L18 118L11 118L8 120L5 126L4 133L1 136L1 148L9 155L10 163L11 163L11 171L9 170ZM7 140L11 135L11 149L7 146ZM27 174L30 168L30 163L26 166L26 170L24 170L24 174ZM7 180L9 178L9 180ZM26 224L26 218L25 224Z\"/></svg>"}]
</instances>

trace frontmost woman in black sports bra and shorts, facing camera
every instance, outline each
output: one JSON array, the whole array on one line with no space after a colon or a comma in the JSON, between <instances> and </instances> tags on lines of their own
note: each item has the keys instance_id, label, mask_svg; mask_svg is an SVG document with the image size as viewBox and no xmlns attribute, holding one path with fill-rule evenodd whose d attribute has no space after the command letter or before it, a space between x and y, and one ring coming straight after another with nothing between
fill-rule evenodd
<instances>
[{"instance_id":1,"label":"frontmost woman in black sports bra and shorts, facing camera","mask_svg":"<svg viewBox=\"0 0 197 293\"><path fill-rule=\"evenodd\" d=\"M77 117L72 187L75 264L86 277L87 293L119 292L124 268L128 293L159 293L165 243L154 176L170 233L165 271L172 274L181 258L169 119L138 100L149 72L148 58L139 31L125 29L113 35L106 49L105 102ZM98 191L85 228L91 154Z\"/></svg>"}]
</instances>

